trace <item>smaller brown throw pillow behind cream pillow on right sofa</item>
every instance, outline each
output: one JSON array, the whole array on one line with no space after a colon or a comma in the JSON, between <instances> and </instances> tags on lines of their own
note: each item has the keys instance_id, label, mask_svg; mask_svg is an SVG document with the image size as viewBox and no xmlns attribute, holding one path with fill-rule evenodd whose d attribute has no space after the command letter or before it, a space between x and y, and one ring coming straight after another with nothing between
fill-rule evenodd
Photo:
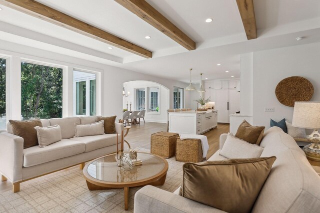
<instances>
[{"instance_id":1,"label":"smaller brown throw pillow behind cream pillow on right sofa","mask_svg":"<svg viewBox=\"0 0 320 213\"><path fill-rule=\"evenodd\" d=\"M246 120L243 120L235 133L235 137L250 144L259 145L263 137L264 128L262 126L252 126Z\"/></svg>"}]
</instances>

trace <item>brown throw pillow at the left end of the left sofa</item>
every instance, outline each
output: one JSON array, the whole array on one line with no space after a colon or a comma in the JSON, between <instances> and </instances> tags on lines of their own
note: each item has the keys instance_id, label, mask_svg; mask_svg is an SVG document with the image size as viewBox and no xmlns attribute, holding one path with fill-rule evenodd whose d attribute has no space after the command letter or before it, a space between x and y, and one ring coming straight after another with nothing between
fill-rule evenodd
<instances>
[{"instance_id":1,"label":"brown throw pillow at the left end of the left sofa","mask_svg":"<svg viewBox=\"0 0 320 213\"><path fill-rule=\"evenodd\" d=\"M23 149L38 145L38 138L34 127L42 127L40 119L35 118L26 121L9 120L9 122L12 125L13 134L23 138Z\"/></svg>"}]
</instances>

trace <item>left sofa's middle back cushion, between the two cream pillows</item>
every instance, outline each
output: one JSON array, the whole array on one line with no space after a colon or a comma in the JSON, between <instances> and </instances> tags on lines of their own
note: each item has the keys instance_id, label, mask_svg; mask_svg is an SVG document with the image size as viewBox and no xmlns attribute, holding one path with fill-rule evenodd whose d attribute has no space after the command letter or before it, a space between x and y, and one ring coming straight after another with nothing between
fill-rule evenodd
<instances>
[{"instance_id":1,"label":"left sofa's middle back cushion, between the two cream pillows","mask_svg":"<svg viewBox=\"0 0 320 213\"><path fill-rule=\"evenodd\" d=\"M59 125L61 127L62 139L69 139L75 135L75 124L80 124L79 117L51 118L50 126Z\"/></svg>"}]
</instances>

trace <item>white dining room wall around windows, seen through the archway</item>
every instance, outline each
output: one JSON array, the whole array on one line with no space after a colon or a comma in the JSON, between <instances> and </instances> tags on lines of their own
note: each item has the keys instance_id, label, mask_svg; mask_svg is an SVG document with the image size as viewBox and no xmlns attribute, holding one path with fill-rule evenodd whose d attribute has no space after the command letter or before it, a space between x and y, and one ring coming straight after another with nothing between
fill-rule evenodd
<instances>
[{"instance_id":1,"label":"white dining room wall around windows, seen through the archway","mask_svg":"<svg viewBox=\"0 0 320 213\"><path fill-rule=\"evenodd\" d=\"M157 87L159 88L159 112L147 112L145 113L145 121L151 122L160 122L166 123L167 122L167 115L166 110L169 109L169 89L165 88L164 86L151 82L151 81L129 81L125 82L124 84L125 92L130 92L131 94L128 97L123 97L123 109L126 108L126 103L128 103L128 110L130 110L130 103L131 110L136 110L135 107L135 89L137 88L144 88L145 89L145 100L147 99L147 87ZM148 104L145 105L147 107ZM147 110L147 109L146 109Z\"/></svg>"}]
</instances>

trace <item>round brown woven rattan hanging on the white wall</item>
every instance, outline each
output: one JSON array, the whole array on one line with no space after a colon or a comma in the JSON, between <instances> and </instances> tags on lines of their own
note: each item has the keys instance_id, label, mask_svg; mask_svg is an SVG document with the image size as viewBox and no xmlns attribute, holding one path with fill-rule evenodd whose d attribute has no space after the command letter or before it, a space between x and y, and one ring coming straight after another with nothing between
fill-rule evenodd
<instances>
[{"instance_id":1,"label":"round brown woven rattan hanging on the white wall","mask_svg":"<svg viewBox=\"0 0 320 213\"><path fill-rule=\"evenodd\" d=\"M294 106L294 101L309 101L313 95L313 86L305 78L292 76L284 78L275 87L275 96L285 106Z\"/></svg>"}]
</instances>

